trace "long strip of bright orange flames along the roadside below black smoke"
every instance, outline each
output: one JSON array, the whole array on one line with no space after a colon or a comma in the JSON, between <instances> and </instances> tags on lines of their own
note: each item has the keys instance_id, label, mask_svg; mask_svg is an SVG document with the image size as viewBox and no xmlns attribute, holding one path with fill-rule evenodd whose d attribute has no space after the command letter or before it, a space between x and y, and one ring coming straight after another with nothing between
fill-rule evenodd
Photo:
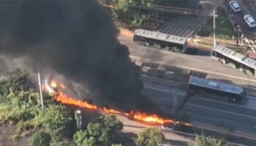
<instances>
[{"instance_id":1,"label":"long strip of bright orange flames along the roadside below black smoke","mask_svg":"<svg viewBox=\"0 0 256 146\"><path fill-rule=\"evenodd\" d=\"M50 86L53 87L53 88L58 88L58 87L66 88L63 83L56 82L56 81L51 81ZM56 101L59 101L62 104L72 104L72 105L82 107L82 108L86 108L86 109L89 109L89 110L102 110L104 112L111 113L111 114L125 115L125 116L127 116L129 118L132 118L134 120L138 120L138 121L148 123L148 124L151 124L151 123L154 123L154 124L173 123L172 119L159 118L159 116L156 115L156 114L148 115L148 114L142 113L142 112L135 112L135 111L121 112L121 111L114 110L114 109L108 109L106 107L100 108L100 107L97 107L97 105L89 104L86 101L82 101L82 100L79 100L79 99L69 97L69 96L67 96L67 94L65 94L63 92L59 92L59 91L55 94L54 98L56 99ZM183 125L186 125L186 126L191 126L190 123L183 123L183 122L178 122L178 121L176 121L176 123L183 124Z\"/></svg>"}]
</instances>

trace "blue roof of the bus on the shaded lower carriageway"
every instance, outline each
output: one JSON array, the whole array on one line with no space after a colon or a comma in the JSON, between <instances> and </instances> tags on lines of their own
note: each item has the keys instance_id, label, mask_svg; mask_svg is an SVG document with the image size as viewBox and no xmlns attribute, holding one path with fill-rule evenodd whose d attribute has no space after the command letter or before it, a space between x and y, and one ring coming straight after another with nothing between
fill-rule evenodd
<instances>
[{"instance_id":1,"label":"blue roof of the bus on the shaded lower carriageway","mask_svg":"<svg viewBox=\"0 0 256 146\"><path fill-rule=\"evenodd\" d=\"M236 85L230 85L230 84L226 84L223 82L217 82L217 81L213 81L213 80L206 80L206 79L199 78L199 77L190 77L189 84L198 85L198 86L206 87L206 88L212 88L212 89L216 89L219 91L225 91L225 92L229 92L229 93L238 93L239 94L244 91L244 88L238 87Z\"/></svg>"}]
</instances>

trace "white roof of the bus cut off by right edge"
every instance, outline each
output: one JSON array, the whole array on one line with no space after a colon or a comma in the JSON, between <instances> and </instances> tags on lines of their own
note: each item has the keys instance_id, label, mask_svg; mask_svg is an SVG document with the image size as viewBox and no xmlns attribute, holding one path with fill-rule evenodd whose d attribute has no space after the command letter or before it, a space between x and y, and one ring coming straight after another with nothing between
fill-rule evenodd
<instances>
[{"instance_id":1,"label":"white roof of the bus cut off by right edge","mask_svg":"<svg viewBox=\"0 0 256 146\"><path fill-rule=\"evenodd\" d=\"M256 69L256 61L252 58L242 55L241 53L238 53L234 50L230 50L229 48L224 47L222 45L217 45L217 47L213 48L213 50L217 51L218 53L222 53L228 58L238 61L241 64L244 64L246 66L252 67L253 69Z\"/></svg>"}]
</instances>

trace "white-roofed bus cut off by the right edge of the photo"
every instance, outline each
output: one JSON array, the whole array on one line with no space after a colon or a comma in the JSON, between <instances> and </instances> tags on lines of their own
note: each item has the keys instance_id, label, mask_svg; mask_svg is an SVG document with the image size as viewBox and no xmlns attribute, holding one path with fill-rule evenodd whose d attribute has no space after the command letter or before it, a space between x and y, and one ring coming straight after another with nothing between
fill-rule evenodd
<instances>
[{"instance_id":1,"label":"white-roofed bus cut off by the right edge of the photo","mask_svg":"<svg viewBox=\"0 0 256 146\"><path fill-rule=\"evenodd\" d=\"M219 61L221 64L238 69L246 75L256 76L256 61L227 47L217 45L217 47L211 49L211 58Z\"/></svg>"}]
</instances>

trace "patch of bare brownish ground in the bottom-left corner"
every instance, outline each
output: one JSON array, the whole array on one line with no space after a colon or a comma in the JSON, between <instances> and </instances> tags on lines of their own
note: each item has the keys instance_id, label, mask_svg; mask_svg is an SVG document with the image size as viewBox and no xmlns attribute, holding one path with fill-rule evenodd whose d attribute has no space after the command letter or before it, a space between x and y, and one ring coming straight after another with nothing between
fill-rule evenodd
<instances>
[{"instance_id":1,"label":"patch of bare brownish ground in the bottom-left corner","mask_svg":"<svg viewBox=\"0 0 256 146\"><path fill-rule=\"evenodd\" d=\"M27 146L29 137L12 140L15 126L0 125L0 146Z\"/></svg>"}]
</instances>

